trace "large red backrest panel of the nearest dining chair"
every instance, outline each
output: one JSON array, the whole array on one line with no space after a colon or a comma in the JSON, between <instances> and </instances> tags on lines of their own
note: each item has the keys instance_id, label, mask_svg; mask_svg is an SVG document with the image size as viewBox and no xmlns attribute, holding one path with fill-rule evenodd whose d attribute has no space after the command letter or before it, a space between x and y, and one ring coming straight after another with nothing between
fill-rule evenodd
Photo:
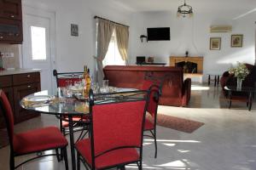
<instances>
[{"instance_id":1,"label":"large red backrest panel of the nearest dining chair","mask_svg":"<svg viewBox=\"0 0 256 170\"><path fill-rule=\"evenodd\" d=\"M124 146L142 147L146 101L94 105L94 155Z\"/></svg>"}]
</instances>

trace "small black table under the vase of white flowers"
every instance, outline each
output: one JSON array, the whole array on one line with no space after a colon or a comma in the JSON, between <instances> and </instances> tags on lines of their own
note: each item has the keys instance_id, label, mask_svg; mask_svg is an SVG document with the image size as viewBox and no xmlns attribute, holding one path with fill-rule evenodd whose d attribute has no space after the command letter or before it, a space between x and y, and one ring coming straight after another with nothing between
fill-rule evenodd
<instances>
[{"instance_id":1,"label":"small black table under the vase of white flowers","mask_svg":"<svg viewBox=\"0 0 256 170\"><path fill-rule=\"evenodd\" d=\"M224 89L228 91L229 109L232 104L232 97L233 97L232 92L242 92L242 93L248 94L247 97L246 96L244 97L243 101L247 102L248 111L251 111L252 105L253 105L253 93L256 92L256 88L251 88L251 87L236 88L236 86L225 86Z\"/></svg>"}]
</instances>

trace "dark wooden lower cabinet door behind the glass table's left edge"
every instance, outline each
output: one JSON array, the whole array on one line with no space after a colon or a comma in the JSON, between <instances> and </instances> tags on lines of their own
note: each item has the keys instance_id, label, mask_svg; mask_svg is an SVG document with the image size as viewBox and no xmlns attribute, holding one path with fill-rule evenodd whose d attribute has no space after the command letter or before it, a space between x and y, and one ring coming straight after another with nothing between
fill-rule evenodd
<instances>
[{"instance_id":1,"label":"dark wooden lower cabinet door behind the glass table's left edge","mask_svg":"<svg viewBox=\"0 0 256 170\"><path fill-rule=\"evenodd\" d=\"M32 83L14 87L15 96L15 122L22 122L34 116L39 116L38 112L27 111L20 107L20 100L29 94L40 91L40 83Z\"/></svg>"}]
</instances>

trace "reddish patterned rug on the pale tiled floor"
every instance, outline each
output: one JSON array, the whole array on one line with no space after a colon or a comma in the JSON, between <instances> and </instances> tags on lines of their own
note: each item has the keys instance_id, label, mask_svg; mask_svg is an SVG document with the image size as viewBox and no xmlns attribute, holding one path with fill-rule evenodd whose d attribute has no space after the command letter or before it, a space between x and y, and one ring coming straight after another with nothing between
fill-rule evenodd
<instances>
[{"instance_id":1,"label":"reddish patterned rug on the pale tiled floor","mask_svg":"<svg viewBox=\"0 0 256 170\"><path fill-rule=\"evenodd\" d=\"M151 116L147 116L150 120ZM152 119L151 119L152 120ZM175 116L167 116L163 114L157 114L157 125L161 127L172 128L184 133L193 133L196 129L204 125L203 122L191 121L189 119L183 119Z\"/></svg>"}]
</instances>

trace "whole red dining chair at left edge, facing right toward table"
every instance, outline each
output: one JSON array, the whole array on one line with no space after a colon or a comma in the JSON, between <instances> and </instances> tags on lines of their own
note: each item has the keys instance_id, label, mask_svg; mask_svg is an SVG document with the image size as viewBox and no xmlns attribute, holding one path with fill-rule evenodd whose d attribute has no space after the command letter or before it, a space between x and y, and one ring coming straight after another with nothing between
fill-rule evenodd
<instances>
[{"instance_id":1,"label":"whole red dining chair at left edge, facing right toward table","mask_svg":"<svg viewBox=\"0 0 256 170\"><path fill-rule=\"evenodd\" d=\"M65 139L58 127L44 127L34 129L26 133L15 133L13 111L9 104L9 100L3 93L2 89L0 89L0 111L3 113L5 118L9 135L9 169L14 170L27 161L32 161L43 156L57 156L58 161L61 161L60 155L57 151L59 149L61 149L63 152L65 167L66 170L68 169L67 139ZM27 161L23 161L15 167L16 156L24 156L27 154L43 152L45 150L56 150L56 154L36 156Z\"/></svg>"}]
</instances>

